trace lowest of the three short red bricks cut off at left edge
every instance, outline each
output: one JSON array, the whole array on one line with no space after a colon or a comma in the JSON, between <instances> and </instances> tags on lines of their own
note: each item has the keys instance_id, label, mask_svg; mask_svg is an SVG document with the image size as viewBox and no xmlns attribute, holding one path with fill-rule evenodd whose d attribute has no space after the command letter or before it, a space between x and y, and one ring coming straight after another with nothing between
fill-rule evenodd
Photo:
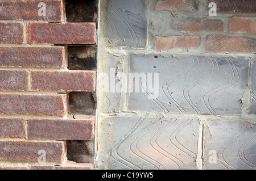
<instances>
[{"instance_id":1,"label":"lowest of the three short red bricks cut off at left edge","mask_svg":"<svg viewBox=\"0 0 256 181\"><path fill-rule=\"evenodd\" d=\"M26 121L24 119L0 118L1 138L24 138L26 134Z\"/></svg>"}]
</instances>

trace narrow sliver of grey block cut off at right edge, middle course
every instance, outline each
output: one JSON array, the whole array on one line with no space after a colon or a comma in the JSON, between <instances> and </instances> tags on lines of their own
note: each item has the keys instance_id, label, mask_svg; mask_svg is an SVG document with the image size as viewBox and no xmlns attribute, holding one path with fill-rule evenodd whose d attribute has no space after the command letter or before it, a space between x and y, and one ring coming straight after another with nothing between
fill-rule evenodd
<instances>
[{"instance_id":1,"label":"narrow sliver of grey block cut off at right edge, middle course","mask_svg":"<svg viewBox=\"0 0 256 181\"><path fill-rule=\"evenodd\" d=\"M251 113L256 114L256 60L251 64Z\"/></svg>"}]
</instances>

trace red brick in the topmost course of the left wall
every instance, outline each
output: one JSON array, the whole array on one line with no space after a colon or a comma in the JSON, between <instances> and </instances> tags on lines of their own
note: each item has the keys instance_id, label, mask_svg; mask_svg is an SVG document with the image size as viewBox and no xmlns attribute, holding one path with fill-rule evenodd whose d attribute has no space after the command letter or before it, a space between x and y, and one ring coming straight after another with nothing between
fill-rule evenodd
<instances>
[{"instance_id":1,"label":"red brick in the topmost course of the left wall","mask_svg":"<svg viewBox=\"0 0 256 181\"><path fill-rule=\"evenodd\" d=\"M39 16L40 2L46 3L46 16ZM1 0L0 20L47 20L63 21L64 10L61 0Z\"/></svg>"}]
</instances>

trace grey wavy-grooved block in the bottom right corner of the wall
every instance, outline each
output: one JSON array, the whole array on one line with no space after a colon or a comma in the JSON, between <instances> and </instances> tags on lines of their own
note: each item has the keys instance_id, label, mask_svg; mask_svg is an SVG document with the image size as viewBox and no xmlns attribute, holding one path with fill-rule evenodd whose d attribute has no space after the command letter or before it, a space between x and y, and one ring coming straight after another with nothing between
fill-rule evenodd
<instances>
[{"instance_id":1,"label":"grey wavy-grooved block in the bottom right corner of the wall","mask_svg":"<svg viewBox=\"0 0 256 181\"><path fill-rule=\"evenodd\" d=\"M255 127L243 120L209 120L204 129L203 169L255 169Z\"/></svg>"}]
</instances>

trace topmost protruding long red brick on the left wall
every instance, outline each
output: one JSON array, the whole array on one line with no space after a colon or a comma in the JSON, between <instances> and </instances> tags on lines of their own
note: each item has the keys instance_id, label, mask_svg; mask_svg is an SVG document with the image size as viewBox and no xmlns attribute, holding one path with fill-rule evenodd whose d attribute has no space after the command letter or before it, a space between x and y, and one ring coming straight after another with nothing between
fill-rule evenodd
<instances>
[{"instance_id":1,"label":"topmost protruding long red brick on the left wall","mask_svg":"<svg viewBox=\"0 0 256 181\"><path fill-rule=\"evenodd\" d=\"M29 23L28 43L95 44L95 23Z\"/></svg>"}]
</instances>

